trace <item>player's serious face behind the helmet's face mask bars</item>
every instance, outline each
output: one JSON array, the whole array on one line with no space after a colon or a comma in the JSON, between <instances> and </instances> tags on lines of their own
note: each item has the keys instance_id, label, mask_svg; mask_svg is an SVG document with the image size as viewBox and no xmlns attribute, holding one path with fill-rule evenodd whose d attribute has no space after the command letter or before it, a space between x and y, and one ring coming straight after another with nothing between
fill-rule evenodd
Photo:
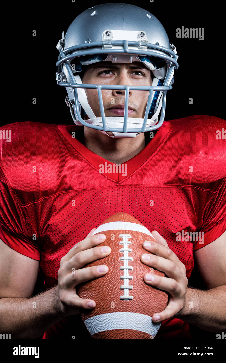
<instances>
[{"instance_id":1,"label":"player's serious face behind the helmet's face mask bars","mask_svg":"<svg viewBox=\"0 0 226 363\"><path fill-rule=\"evenodd\" d=\"M151 86L151 71L141 62L97 62L87 67L83 83L101 85ZM96 117L101 117L96 89L85 89L89 105ZM149 91L129 91L128 117L144 118ZM124 116L125 90L102 90L106 117ZM88 118L87 115L85 117Z\"/></svg>"}]
</instances>

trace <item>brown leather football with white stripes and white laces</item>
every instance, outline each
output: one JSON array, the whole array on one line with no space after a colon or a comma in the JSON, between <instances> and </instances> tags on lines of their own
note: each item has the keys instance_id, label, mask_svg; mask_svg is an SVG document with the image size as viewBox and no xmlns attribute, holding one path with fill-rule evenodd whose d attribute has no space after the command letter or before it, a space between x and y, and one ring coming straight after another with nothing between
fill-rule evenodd
<instances>
[{"instance_id":1,"label":"brown leather football with white stripes and white laces","mask_svg":"<svg viewBox=\"0 0 226 363\"><path fill-rule=\"evenodd\" d=\"M161 323L152 322L152 315L164 310L168 294L143 280L146 273L165 276L140 260L149 253L144 241L155 241L151 232L127 213L115 213L104 221L94 234L104 233L106 240L98 246L110 246L111 253L84 267L107 265L102 277L77 285L77 294L93 299L94 309L80 311L93 339L153 339Z\"/></svg>"}]
</instances>

